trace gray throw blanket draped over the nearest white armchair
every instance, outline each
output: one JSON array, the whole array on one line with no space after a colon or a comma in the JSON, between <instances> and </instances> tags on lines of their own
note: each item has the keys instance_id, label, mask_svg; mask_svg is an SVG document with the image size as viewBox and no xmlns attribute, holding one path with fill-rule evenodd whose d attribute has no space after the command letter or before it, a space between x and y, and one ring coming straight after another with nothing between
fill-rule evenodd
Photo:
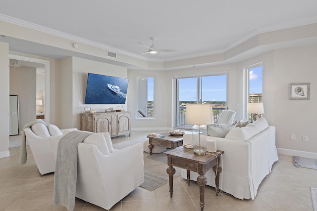
<instances>
[{"instance_id":1,"label":"gray throw blanket draped over the nearest white armchair","mask_svg":"<svg viewBox=\"0 0 317 211\"><path fill-rule=\"evenodd\" d=\"M58 142L54 173L54 205L75 208L78 145L92 132L75 130Z\"/></svg>"}]
</instances>

